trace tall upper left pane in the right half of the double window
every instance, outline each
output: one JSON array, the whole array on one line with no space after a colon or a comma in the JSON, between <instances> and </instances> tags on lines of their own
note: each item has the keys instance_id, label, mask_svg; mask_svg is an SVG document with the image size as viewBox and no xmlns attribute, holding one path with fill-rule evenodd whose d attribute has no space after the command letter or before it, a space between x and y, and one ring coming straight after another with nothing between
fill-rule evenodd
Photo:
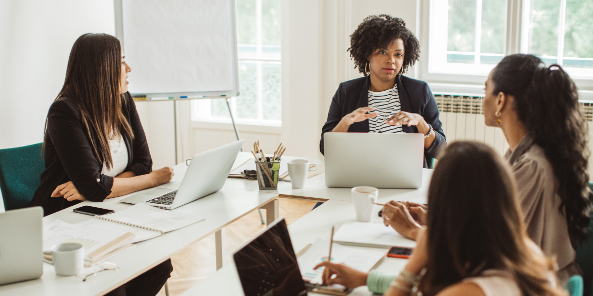
<instances>
[{"instance_id":1,"label":"tall upper left pane in the right half of the double window","mask_svg":"<svg viewBox=\"0 0 593 296\"><path fill-rule=\"evenodd\" d=\"M527 52L537 56L557 56L560 0L532 0L529 19Z\"/></svg>"}]
</instances>

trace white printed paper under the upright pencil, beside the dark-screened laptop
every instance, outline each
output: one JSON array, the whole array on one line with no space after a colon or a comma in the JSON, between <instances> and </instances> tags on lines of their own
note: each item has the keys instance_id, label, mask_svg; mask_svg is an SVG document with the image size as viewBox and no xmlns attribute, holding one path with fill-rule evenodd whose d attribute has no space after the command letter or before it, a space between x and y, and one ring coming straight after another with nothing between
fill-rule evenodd
<instances>
[{"instance_id":1,"label":"white printed paper under the upright pencil, beside the dark-screened laptop","mask_svg":"<svg viewBox=\"0 0 593 296\"><path fill-rule=\"evenodd\" d=\"M311 284L321 284L323 267L313 269L317 264L326 261L330 250L330 242L324 239L317 239L307 252L301 255L298 260L301 269L302 279ZM345 265L359 271L368 272L379 260L385 257L387 251L379 249L358 249L346 247L340 244L333 244L331 248L331 263L344 263Z\"/></svg>"}]
</instances>

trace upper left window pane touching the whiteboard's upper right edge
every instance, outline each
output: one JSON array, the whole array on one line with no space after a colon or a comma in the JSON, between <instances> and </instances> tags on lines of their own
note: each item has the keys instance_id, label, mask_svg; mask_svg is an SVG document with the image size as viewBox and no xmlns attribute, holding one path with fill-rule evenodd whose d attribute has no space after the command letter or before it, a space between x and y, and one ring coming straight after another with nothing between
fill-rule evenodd
<instances>
[{"instance_id":1,"label":"upper left window pane touching the whiteboard's upper right edge","mask_svg":"<svg viewBox=\"0 0 593 296\"><path fill-rule=\"evenodd\" d=\"M235 1L237 12L237 43L253 44L255 52L256 44L256 0L237 0ZM243 51L241 45L239 51ZM247 47L248 48L248 47Z\"/></svg>"}]
</instances>

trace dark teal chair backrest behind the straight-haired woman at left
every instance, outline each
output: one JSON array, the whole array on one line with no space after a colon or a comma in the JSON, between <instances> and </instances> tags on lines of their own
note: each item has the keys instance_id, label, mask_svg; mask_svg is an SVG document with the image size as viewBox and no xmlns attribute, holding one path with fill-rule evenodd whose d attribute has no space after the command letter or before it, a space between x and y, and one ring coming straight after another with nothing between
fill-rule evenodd
<instances>
[{"instance_id":1,"label":"dark teal chair backrest behind the straight-haired woman at left","mask_svg":"<svg viewBox=\"0 0 593 296\"><path fill-rule=\"evenodd\" d=\"M0 149L0 190L5 210L28 207L41 182L45 164L42 143Z\"/></svg>"}]
</instances>

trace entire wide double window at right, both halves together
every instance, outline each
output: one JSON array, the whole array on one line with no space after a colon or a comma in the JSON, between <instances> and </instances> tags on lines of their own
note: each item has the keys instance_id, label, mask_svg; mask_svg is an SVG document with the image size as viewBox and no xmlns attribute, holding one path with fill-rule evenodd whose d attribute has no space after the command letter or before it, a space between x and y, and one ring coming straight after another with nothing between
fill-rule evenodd
<instances>
[{"instance_id":1,"label":"entire wide double window at right, both halves together","mask_svg":"<svg viewBox=\"0 0 593 296\"><path fill-rule=\"evenodd\" d=\"M522 15L507 20L509 5ZM592 15L591 0L430 0L428 73L487 75L505 55L522 52L591 79Z\"/></svg>"}]
</instances>

